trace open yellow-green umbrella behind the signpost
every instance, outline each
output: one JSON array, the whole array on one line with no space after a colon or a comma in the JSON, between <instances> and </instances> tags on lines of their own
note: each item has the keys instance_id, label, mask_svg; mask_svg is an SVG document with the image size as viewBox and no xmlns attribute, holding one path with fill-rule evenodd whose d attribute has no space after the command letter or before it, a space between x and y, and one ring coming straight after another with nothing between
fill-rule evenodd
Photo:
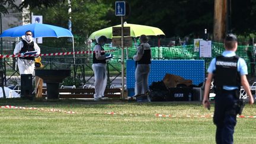
<instances>
[{"instance_id":1,"label":"open yellow-green umbrella behind the signpost","mask_svg":"<svg viewBox=\"0 0 256 144\"><path fill-rule=\"evenodd\" d=\"M115 25L113 27L121 27L121 24ZM92 33L89 36L89 39L94 40L95 38L100 36L105 36L108 39L112 39L113 27L107 27L98 31L94 31L94 33ZM139 24L127 24L126 22L124 22L124 27L130 27L131 37L139 37L142 34L145 34L146 36L165 36L164 32L157 27L151 27L151 26L139 25Z\"/></svg>"}]
</instances>

